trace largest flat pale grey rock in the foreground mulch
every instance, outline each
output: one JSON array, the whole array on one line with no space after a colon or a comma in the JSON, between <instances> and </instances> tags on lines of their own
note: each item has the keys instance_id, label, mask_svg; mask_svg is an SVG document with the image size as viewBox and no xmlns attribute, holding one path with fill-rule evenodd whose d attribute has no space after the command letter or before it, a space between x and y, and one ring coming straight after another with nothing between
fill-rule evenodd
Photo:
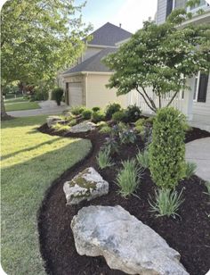
<instances>
[{"instance_id":1,"label":"largest flat pale grey rock in the foreground mulch","mask_svg":"<svg viewBox=\"0 0 210 275\"><path fill-rule=\"evenodd\" d=\"M180 254L153 229L117 205L82 208L71 221L77 253L103 256L128 274L186 275Z\"/></svg>"}]
</instances>

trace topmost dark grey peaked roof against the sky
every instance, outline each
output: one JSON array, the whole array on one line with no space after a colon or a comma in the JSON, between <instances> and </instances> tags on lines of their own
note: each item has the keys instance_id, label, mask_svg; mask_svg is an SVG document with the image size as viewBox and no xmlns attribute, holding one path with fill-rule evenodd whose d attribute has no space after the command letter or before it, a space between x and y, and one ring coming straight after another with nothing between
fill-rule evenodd
<instances>
[{"instance_id":1,"label":"topmost dark grey peaked roof against the sky","mask_svg":"<svg viewBox=\"0 0 210 275\"><path fill-rule=\"evenodd\" d=\"M93 39L88 42L97 46L116 46L116 43L132 36L132 33L109 22L91 34Z\"/></svg>"}]
</instances>

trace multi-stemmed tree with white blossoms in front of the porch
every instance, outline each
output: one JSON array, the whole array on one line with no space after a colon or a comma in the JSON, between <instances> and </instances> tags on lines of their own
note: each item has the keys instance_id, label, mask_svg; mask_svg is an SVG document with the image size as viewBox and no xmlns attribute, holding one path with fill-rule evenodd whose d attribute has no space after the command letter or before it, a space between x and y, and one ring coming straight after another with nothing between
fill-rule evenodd
<instances>
[{"instance_id":1,"label":"multi-stemmed tree with white blossoms in front of the porch","mask_svg":"<svg viewBox=\"0 0 210 275\"><path fill-rule=\"evenodd\" d=\"M117 95L136 89L154 112L162 107L167 93L173 93L169 106L180 90L190 89L187 79L210 69L210 24L182 25L190 17L185 9L177 9L161 25L145 21L143 28L117 53L104 59L109 69L115 71L108 87L117 87ZM158 105L146 87L158 96Z\"/></svg>"}]
</instances>

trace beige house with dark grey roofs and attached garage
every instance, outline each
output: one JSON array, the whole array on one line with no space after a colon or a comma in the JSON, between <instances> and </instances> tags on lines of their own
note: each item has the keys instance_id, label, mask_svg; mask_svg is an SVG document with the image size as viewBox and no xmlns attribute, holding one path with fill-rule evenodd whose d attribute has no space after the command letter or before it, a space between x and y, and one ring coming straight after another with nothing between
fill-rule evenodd
<instances>
[{"instance_id":1,"label":"beige house with dark grey roofs and attached garage","mask_svg":"<svg viewBox=\"0 0 210 275\"><path fill-rule=\"evenodd\" d=\"M117 96L117 89L106 87L113 72L101 63L101 59L116 52L117 43L131 36L132 33L109 22L92 33L93 38L87 43L79 63L62 74L67 104L88 108L105 107L110 102L127 105L126 96Z\"/></svg>"}]
</instances>

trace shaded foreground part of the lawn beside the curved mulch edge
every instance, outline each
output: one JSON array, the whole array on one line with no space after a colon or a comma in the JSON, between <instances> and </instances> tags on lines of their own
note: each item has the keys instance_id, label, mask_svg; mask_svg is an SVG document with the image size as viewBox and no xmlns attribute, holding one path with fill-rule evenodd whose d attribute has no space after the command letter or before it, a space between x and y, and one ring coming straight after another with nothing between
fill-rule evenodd
<instances>
[{"instance_id":1,"label":"shaded foreground part of the lawn beside the curved mulch edge","mask_svg":"<svg viewBox=\"0 0 210 275\"><path fill-rule=\"evenodd\" d=\"M76 139L69 145L2 169L2 265L8 274L40 271L43 263L36 214L45 191L54 179L85 158L90 149L89 141Z\"/></svg>"}]
</instances>

